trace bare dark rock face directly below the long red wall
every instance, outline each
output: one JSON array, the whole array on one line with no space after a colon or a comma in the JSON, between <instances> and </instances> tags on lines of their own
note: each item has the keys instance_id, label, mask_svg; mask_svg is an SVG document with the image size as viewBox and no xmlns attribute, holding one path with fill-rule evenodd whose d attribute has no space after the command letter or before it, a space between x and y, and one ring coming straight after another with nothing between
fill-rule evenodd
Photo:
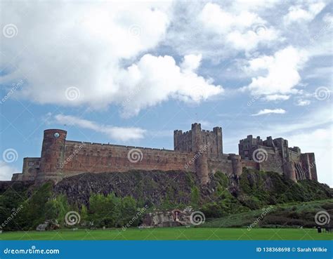
<instances>
[{"instance_id":1,"label":"bare dark rock face directly below the long red wall","mask_svg":"<svg viewBox=\"0 0 333 259\"><path fill-rule=\"evenodd\" d=\"M214 185L214 184L213 184ZM84 173L64 178L54 187L55 194L65 194L71 204L88 204L91 192L117 197L131 196L143 204L163 202L190 204L192 192L200 182L195 173L183 171L129 171L126 173ZM209 187L202 188L208 194Z\"/></svg>"}]
</instances>

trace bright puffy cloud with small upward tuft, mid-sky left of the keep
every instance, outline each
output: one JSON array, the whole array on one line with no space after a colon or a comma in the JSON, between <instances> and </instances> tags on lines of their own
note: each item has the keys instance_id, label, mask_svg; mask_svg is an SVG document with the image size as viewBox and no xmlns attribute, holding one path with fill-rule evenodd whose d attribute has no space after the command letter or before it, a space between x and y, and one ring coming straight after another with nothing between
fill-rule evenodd
<instances>
[{"instance_id":1,"label":"bright puffy cloud with small upward tuft, mid-sky left of the keep","mask_svg":"<svg viewBox=\"0 0 333 259\"><path fill-rule=\"evenodd\" d=\"M131 100L123 104L124 116L138 114L140 109L168 98L200 102L223 93L221 86L215 86L211 80L195 73L200 60L200 55L187 55L179 67L171 56L144 55L120 74L124 87L117 93L116 99L124 100L128 93L133 93L132 98L129 98ZM136 86L139 91L136 91Z\"/></svg>"}]
</instances>

